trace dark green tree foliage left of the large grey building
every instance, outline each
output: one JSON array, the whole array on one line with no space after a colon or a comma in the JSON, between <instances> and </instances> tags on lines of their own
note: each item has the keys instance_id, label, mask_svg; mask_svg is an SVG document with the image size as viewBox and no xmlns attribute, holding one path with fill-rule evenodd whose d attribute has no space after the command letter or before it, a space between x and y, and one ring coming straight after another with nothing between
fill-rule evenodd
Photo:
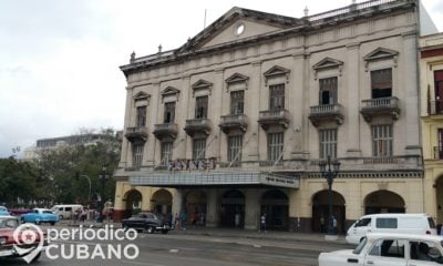
<instances>
[{"instance_id":1,"label":"dark green tree foliage left of the large grey building","mask_svg":"<svg viewBox=\"0 0 443 266\"><path fill-rule=\"evenodd\" d=\"M16 205L17 198L21 198L42 206L55 203L94 205L99 194L104 200L112 200L115 192L112 174L120 160L121 142L116 132L107 129L99 133L101 137L94 144L85 143L82 136L89 133L78 134L79 139L74 137L73 142L61 147L40 151L32 162L13 157L1 160L0 202ZM100 177L103 167L107 177L104 195Z\"/></svg>"}]
</instances>

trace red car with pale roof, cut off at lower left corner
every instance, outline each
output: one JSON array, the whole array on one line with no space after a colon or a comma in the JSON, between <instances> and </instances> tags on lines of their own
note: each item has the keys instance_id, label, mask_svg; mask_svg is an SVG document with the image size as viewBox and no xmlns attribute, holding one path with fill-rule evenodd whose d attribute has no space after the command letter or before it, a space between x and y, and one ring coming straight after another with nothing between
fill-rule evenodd
<instances>
[{"instance_id":1,"label":"red car with pale roof, cut off at lower left corner","mask_svg":"<svg viewBox=\"0 0 443 266\"><path fill-rule=\"evenodd\" d=\"M31 244L23 245L23 239L21 239L21 234L18 234L19 242L16 242L13 234L17 227L19 227L20 222L17 217L13 216L2 216L0 217L0 258L2 257L23 257L29 253L33 252L32 247L38 247L40 242L44 242L45 234L43 234L43 239L41 239L40 234L35 234L35 241ZM24 238L24 236L23 236ZM30 249L29 253L18 254L14 245L21 248ZM43 245L48 245L44 242ZM37 262L40 258L41 252L37 254L37 256L32 259L32 263Z\"/></svg>"}]
</instances>

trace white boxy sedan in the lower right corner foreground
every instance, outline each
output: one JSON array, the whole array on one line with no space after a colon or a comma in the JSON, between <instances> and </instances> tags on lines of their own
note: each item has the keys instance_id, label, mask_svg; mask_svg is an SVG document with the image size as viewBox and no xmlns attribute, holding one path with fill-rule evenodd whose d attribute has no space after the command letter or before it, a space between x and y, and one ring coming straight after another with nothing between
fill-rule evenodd
<instances>
[{"instance_id":1,"label":"white boxy sedan in the lower right corner foreground","mask_svg":"<svg viewBox=\"0 0 443 266\"><path fill-rule=\"evenodd\" d=\"M321 253L319 266L425 266L443 264L443 237L370 233L356 249Z\"/></svg>"}]
</instances>

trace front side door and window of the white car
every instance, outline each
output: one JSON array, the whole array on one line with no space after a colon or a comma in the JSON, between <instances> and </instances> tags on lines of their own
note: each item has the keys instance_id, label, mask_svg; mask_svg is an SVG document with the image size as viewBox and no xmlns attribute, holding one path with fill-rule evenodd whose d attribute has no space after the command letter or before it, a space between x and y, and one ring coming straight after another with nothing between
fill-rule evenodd
<instances>
[{"instance_id":1,"label":"front side door and window of the white car","mask_svg":"<svg viewBox=\"0 0 443 266\"><path fill-rule=\"evenodd\" d=\"M381 238L374 242L365 258L365 266L406 266L405 239Z\"/></svg>"}]
</instances>

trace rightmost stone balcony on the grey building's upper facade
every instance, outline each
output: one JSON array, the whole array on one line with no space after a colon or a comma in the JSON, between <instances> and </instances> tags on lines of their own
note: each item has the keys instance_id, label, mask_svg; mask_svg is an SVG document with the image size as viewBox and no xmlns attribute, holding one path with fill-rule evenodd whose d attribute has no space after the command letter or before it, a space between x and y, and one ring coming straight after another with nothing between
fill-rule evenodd
<instances>
[{"instance_id":1,"label":"rightmost stone balcony on the grey building's upper facade","mask_svg":"<svg viewBox=\"0 0 443 266\"><path fill-rule=\"evenodd\" d=\"M360 113L367 122L370 122L374 116L388 115L391 116L392 120L398 120L400 116L400 104L398 98L370 99L363 100L361 103L363 106L360 110Z\"/></svg>"}]
</instances>

